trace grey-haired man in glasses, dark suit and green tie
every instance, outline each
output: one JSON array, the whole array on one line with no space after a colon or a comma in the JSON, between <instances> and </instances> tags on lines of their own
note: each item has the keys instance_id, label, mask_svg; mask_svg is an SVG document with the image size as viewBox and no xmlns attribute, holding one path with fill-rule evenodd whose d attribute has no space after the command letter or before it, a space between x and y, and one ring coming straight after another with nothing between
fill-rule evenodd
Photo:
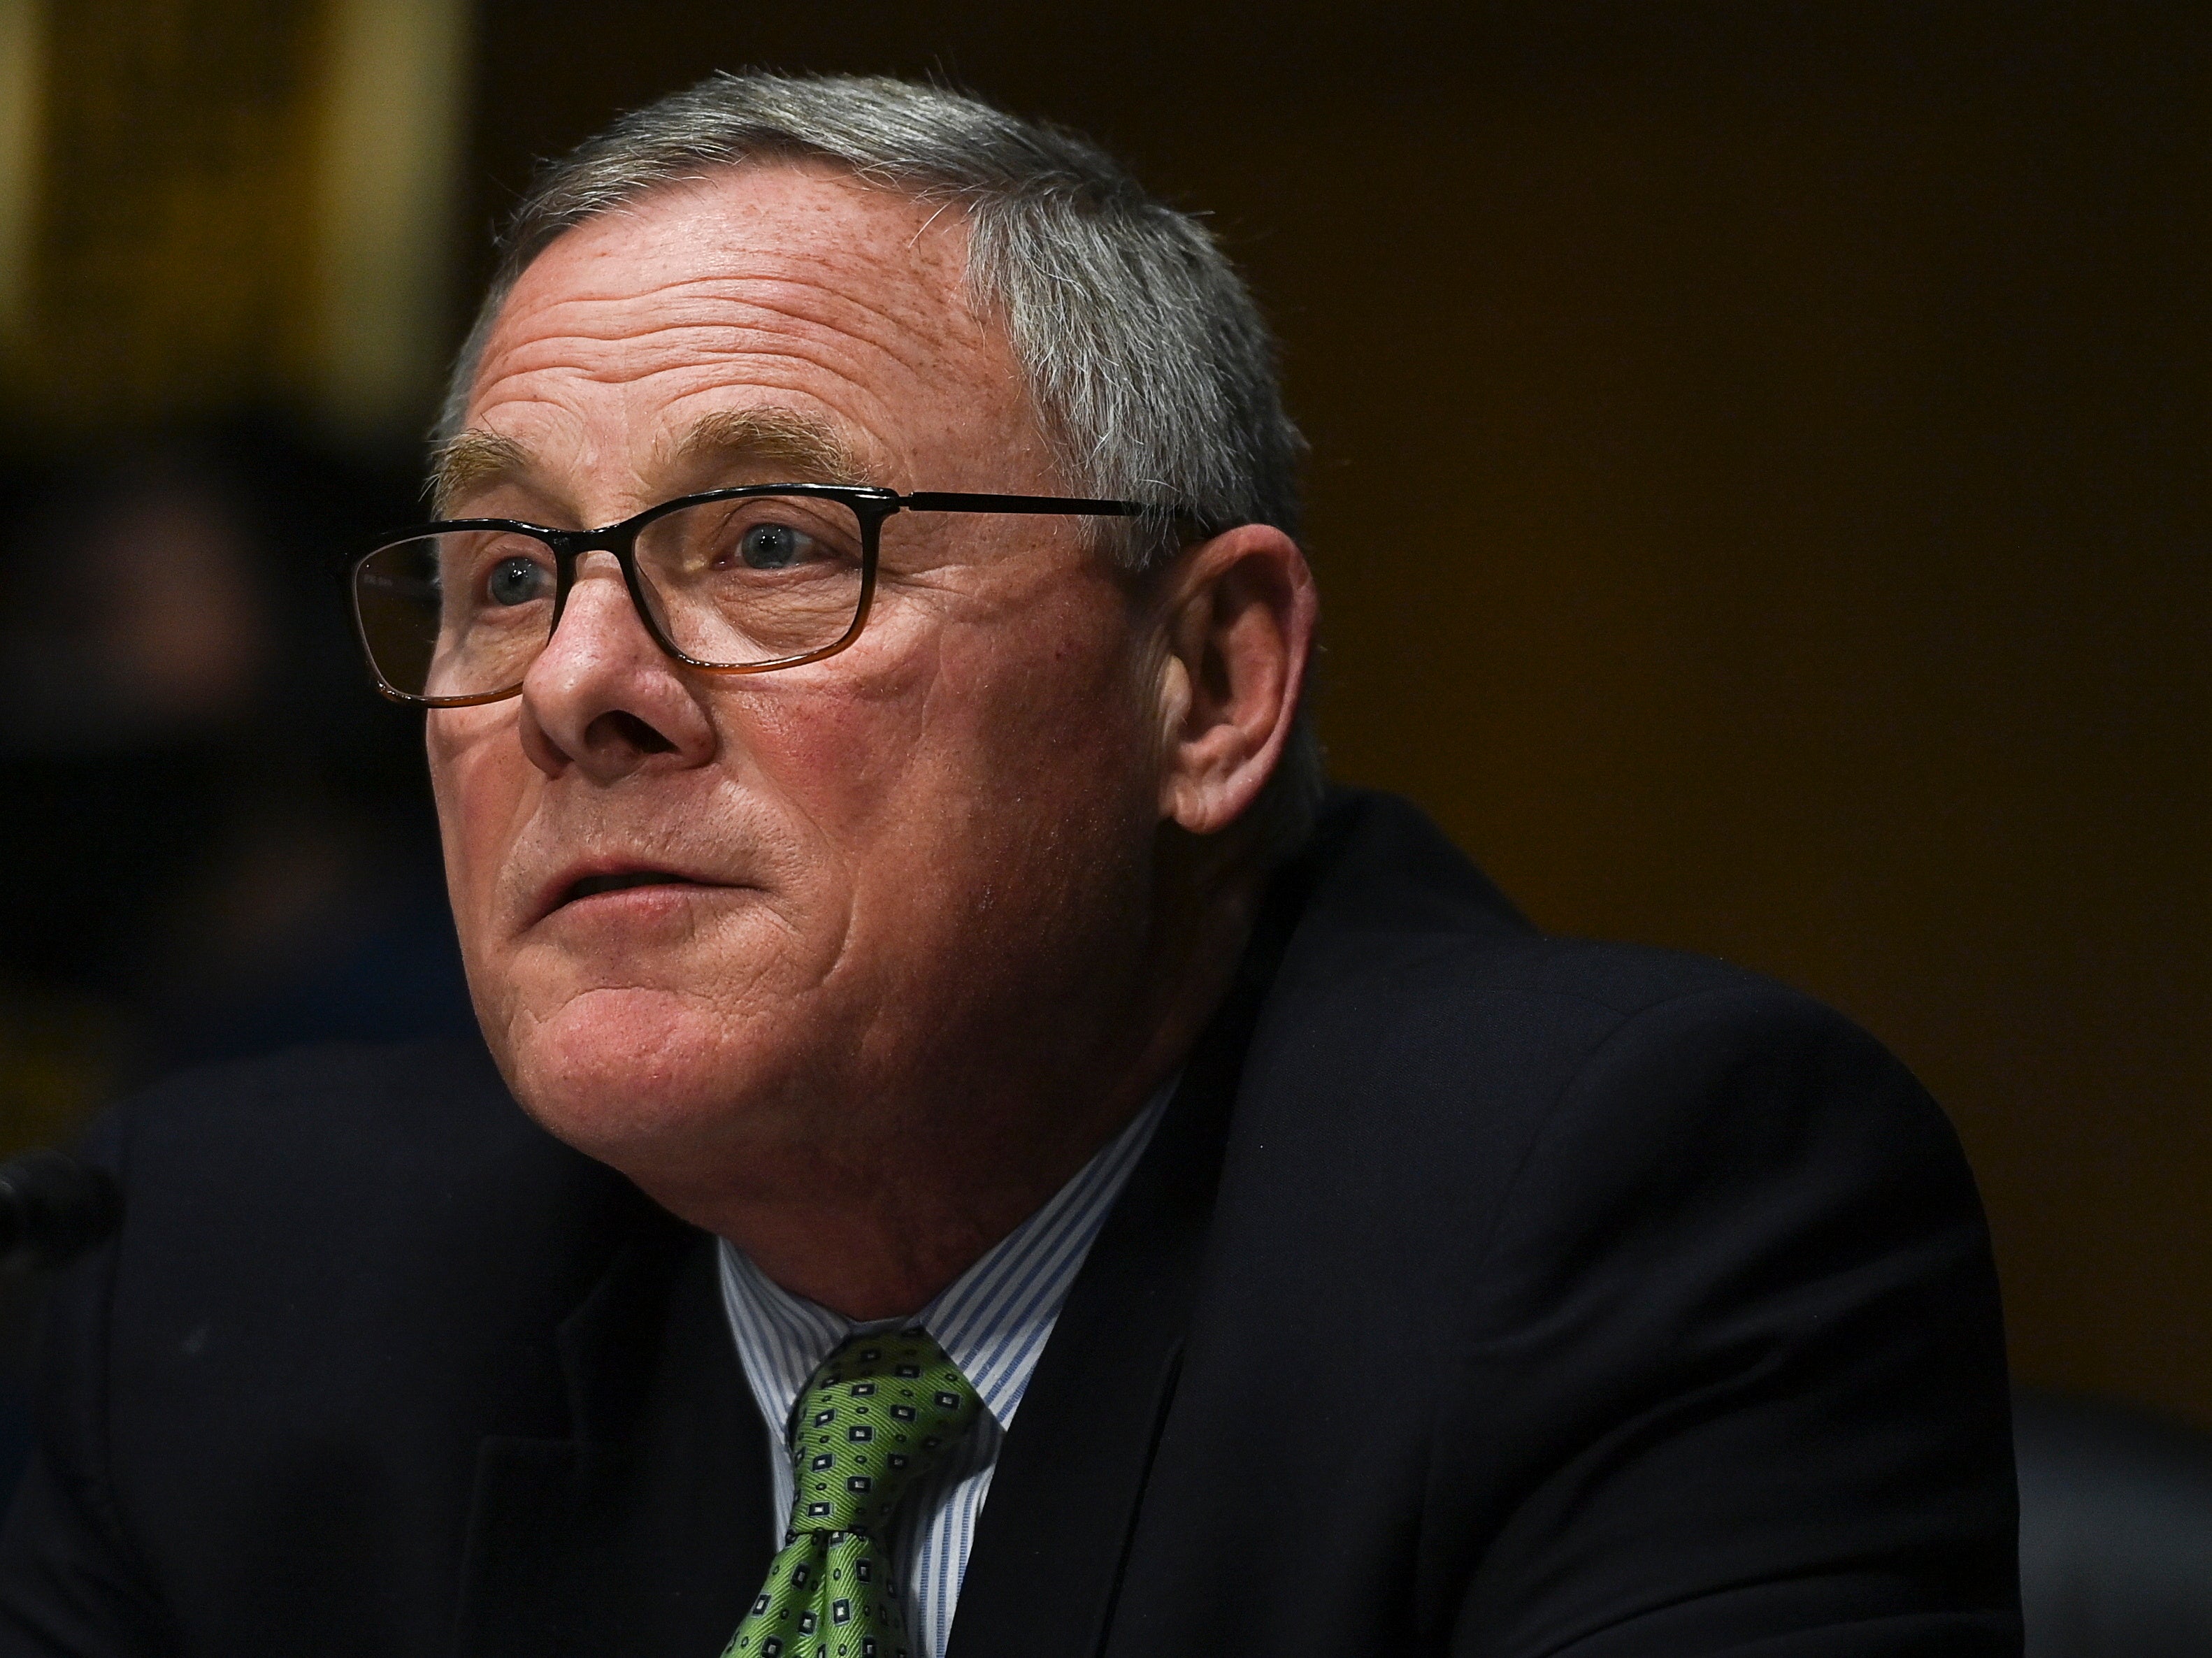
<instances>
[{"instance_id":1,"label":"grey-haired man in glasses, dark suit and green tie","mask_svg":"<svg viewBox=\"0 0 2212 1658\"><path fill-rule=\"evenodd\" d=\"M440 526L356 566L498 1079L106 1123L7 1651L2017 1649L1940 1114L1316 820L1267 358L1188 219L940 91L551 170Z\"/></svg>"}]
</instances>

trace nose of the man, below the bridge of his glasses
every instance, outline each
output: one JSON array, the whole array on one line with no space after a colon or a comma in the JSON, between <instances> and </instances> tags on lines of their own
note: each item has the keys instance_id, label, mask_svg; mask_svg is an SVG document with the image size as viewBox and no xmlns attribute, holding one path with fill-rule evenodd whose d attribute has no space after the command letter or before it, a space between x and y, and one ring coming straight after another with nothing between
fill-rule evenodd
<instances>
[{"instance_id":1,"label":"nose of the man, below the bridge of his glasses","mask_svg":"<svg viewBox=\"0 0 2212 1658\"><path fill-rule=\"evenodd\" d=\"M586 553L560 626L522 679L522 749L549 778L593 783L706 765L714 725L699 688L653 641L611 553Z\"/></svg>"}]
</instances>

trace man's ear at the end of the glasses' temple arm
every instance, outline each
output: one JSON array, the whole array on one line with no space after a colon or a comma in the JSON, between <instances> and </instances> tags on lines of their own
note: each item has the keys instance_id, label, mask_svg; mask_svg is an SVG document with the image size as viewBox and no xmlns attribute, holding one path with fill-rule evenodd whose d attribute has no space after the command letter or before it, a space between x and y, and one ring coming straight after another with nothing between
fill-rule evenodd
<instances>
[{"instance_id":1,"label":"man's ear at the end of the glasses' temple arm","mask_svg":"<svg viewBox=\"0 0 2212 1658\"><path fill-rule=\"evenodd\" d=\"M1164 573L1159 814L1208 836L1265 787L1298 714L1314 573L1272 524L1239 524Z\"/></svg>"}]
</instances>

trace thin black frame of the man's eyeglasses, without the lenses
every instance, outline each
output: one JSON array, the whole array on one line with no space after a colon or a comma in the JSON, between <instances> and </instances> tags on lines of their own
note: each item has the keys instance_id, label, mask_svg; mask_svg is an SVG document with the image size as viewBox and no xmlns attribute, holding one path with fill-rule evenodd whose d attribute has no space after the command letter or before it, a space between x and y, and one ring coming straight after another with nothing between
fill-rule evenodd
<instances>
[{"instance_id":1,"label":"thin black frame of the man's eyeglasses, without the lenses","mask_svg":"<svg viewBox=\"0 0 2212 1658\"><path fill-rule=\"evenodd\" d=\"M843 502L852 508L852 515L860 522L860 601L854 608L852 626L827 646L818 650L805 650L796 657L776 657L772 661L759 663L712 663L701 661L675 646L672 639L661 630L661 623L653 619L653 606L646 604L644 579L637 575L637 537L639 533L659 517L668 513L679 513L688 506L706 506L708 502L730 502L745 500L750 495L812 495L816 500ZM706 674L768 674L779 668L799 668L810 661L821 661L825 657L836 657L841 650L852 646L860 637L860 628L867 626L869 606L876 599L876 555L883 537L883 522L894 513L1033 513L1033 515L1060 515L1060 517L1157 517L1177 522L1199 535L1212 535L1214 531L1197 513L1183 506L1157 506L1146 502L1113 502L1113 500L1091 500L1082 495L975 495L962 491L931 491L920 489L900 495L896 489L878 489L874 484L737 484L734 489L708 489L697 495L677 495L675 500L661 502L659 506L648 506L644 513L622 520L619 524L604 524L595 531L555 531L546 524L529 524L518 517L451 517L438 520L434 524L416 524L414 528L392 531L389 535L376 537L376 546L365 553L354 553L345 562L345 592L347 610L354 617L354 639L361 641L361 654L369 663L369 672L376 676L376 690L383 692L394 703L407 703L409 707L480 707L482 703L504 703L509 696L522 692L522 681L518 679L507 690L478 692L471 696L422 696L420 692L403 692L392 681L385 679L383 668L376 665L376 650L369 643L367 623L361 617L361 566L383 553L387 546L400 542L416 542L431 535L445 535L449 531L504 531L509 535L529 535L533 542L542 542L553 553L553 621L546 628L546 639L553 639L553 630L560 628L562 610L568 606L568 590L575 586L575 564L586 553L613 553L615 564L622 566L622 586L630 595L630 608L637 610L637 619L644 623L646 634L655 646L661 648L666 657L684 663L686 668L697 668Z\"/></svg>"}]
</instances>

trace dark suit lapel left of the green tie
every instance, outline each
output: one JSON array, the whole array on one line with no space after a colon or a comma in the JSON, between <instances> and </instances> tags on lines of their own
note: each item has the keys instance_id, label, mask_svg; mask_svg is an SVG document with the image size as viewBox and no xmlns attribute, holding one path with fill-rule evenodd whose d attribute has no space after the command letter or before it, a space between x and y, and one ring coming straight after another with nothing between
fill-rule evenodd
<instances>
[{"instance_id":1,"label":"dark suit lapel left of the green tie","mask_svg":"<svg viewBox=\"0 0 2212 1658\"><path fill-rule=\"evenodd\" d=\"M560 1326L571 1439L478 1452L460 1658L714 1658L768 1572L765 1435L712 1240L657 1218Z\"/></svg>"}]
</instances>

